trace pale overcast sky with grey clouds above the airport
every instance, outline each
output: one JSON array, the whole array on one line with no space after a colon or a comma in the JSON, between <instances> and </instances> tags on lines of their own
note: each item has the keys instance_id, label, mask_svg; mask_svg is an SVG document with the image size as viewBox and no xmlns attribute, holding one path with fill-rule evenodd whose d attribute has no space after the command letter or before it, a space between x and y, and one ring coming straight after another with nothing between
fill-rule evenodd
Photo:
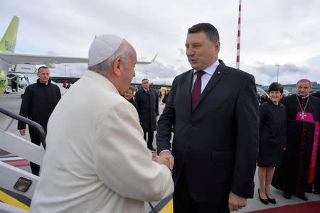
<instances>
[{"instance_id":1,"label":"pale overcast sky with grey clouds above the airport","mask_svg":"<svg viewBox=\"0 0 320 213\"><path fill-rule=\"evenodd\" d=\"M133 82L148 77L171 84L191 67L184 43L188 28L212 23L220 33L219 59L235 67L238 0L209 1L2 1L0 35L11 18L20 18L16 53L87 57L95 35L111 33L126 38L137 50L139 65ZM301 78L320 82L320 1L242 0L240 69L255 75L258 84L295 83ZM79 77L87 65L66 67ZM56 65L52 75L65 75Z\"/></svg>"}]
</instances>

